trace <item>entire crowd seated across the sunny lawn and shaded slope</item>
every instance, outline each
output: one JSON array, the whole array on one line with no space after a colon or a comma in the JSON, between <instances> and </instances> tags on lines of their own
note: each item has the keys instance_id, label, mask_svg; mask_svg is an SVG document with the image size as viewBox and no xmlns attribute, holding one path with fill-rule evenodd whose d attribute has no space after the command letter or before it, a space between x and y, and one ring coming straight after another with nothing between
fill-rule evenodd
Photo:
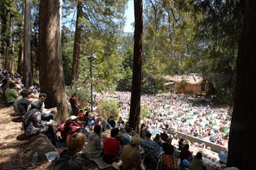
<instances>
[{"instance_id":1,"label":"entire crowd seated across the sunny lawn and shaded slope","mask_svg":"<svg viewBox=\"0 0 256 170\"><path fill-rule=\"evenodd\" d=\"M141 106L146 105L151 113L141 119L140 131L134 132L126 126L131 93L115 92L114 96L97 94L100 100L116 97L122 106L119 119L111 116L104 120L97 113L97 108L95 113L79 110L79 101L74 92L68 99L72 115L55 128L52 120L56 108L45 108L47 94L40 92L39 85L27 90L19 74L15 77L4 70L1 75L1 88L6 103L22 118L25 134L35 136L44 133L52 145L67 146L56 157L54 169L83 169L81 162L76 160L76 153L81 150L88 157L102 157L106 164L112 164L116 169L146 169L148 162L154 162L154 158L148 156L148 150L153 150L152 155L157 156L163 153L173 155L176 149L180 152L182 166L192 170L205 169L202 153L192 155L188 143L184 143L182 138L179 147L172 145L177 131L226 146L225 139L228 139L230 125L228 110L209 105L197 106L186 96L142 95ZM31 100L31 97L35 99ZM102 131L108 130L109 138L102 141ZM225 161L221 163L227 163L227 159Z\"/></svg>"}]
</instances>

